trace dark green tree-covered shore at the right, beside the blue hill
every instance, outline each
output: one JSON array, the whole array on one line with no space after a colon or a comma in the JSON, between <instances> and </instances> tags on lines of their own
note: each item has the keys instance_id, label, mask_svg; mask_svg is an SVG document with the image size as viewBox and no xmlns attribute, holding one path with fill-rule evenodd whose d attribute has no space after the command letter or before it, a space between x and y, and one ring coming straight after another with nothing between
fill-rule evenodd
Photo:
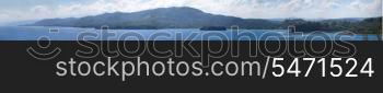
<instances>
[{"instance_id":1,"label":"dark green tree-covered shore at the right, beside the blue hill","mask_svg":"<svg viewBox=\"0 0 383 93\"><path fill-rule=\"evenodd\" d=\"M382 34L382 18L370 18L362 21L353 20L324 20L304 21L302 19L286 20L281 26L286 28L294 25L298 32L334 32L350 31L358 34Z\"/></svg>"}]
</instances>

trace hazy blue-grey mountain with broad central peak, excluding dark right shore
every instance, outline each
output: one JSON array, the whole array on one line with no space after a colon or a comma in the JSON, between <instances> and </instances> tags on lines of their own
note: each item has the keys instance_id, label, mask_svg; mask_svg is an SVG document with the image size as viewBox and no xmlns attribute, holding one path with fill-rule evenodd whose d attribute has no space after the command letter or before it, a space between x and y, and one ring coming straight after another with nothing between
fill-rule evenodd
<instances>
[{"instance_id":1,"label":"hazy blue-grey mountain with broad central peak, excluding dark right shore","mask_svg":"<svg viewBox=\"0 0 383 93\"><path fill-rule=\"evenodd\" d=\"M260 19L241 19L206 13L188 7L159 8L131 13L105 13L94 16L47 19L32 26L70 26L111 28L200 28L204 26L239 25L241 28L271 28L278 22Z\"/></svg>"}]
</instances>

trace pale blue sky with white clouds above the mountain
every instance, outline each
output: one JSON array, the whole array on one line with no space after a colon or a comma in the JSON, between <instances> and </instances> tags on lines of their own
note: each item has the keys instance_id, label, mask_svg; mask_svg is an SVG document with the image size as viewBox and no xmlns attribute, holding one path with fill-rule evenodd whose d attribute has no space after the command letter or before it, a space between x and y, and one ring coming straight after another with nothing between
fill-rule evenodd
<instances>
[{"instance_id":1,"label":"pale blue sky with white clouds above the mountain","mask_svg":"<svg viewBox=\"0 0 383 93\"><path fill-rule=\"evenodd\" d=\"M244 19L337 19L382 15L382 0L0 0L0 24L192 7Z\"/></svg>"}]
</instances>

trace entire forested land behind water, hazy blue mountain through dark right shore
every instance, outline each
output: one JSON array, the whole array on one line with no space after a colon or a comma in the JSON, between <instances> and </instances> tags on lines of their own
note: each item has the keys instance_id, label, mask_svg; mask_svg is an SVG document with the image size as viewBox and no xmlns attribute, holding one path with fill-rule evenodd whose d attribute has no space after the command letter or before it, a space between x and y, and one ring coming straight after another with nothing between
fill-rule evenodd
<instances>
[{"instance_id":1,"label":"entire forested land behind water, hazy blue mountain through dark right shore","mask_svg":"<svg viewBox=\"0 0 383 93\"><path fill-rule=\"evenodd\" d=\"M125 30L151 28L201 28L206 26L230 27L237 25L241 28L254 30L287 30L294 25L298 32L333 32L351 31L362 34L380 34L382 31L382 16L355 18L307 21L302 19L264 20L241 19L219 14L206 13L188 7L159 8L131 13L105 13L94 16L47 19L30 26L70 26L70 27L101 27Z\"/></svg>"}]
</instances>

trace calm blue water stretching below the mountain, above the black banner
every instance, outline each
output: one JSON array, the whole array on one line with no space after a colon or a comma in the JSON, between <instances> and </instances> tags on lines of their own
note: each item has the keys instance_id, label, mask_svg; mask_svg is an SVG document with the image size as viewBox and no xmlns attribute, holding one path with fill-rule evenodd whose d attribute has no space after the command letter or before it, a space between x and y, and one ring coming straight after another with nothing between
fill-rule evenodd
<instances>
[{"instance_id":1,"label":"calm blue water stretching below the mountain, above the black banner","mask_svg":"<svg viewBox=\"0 0 383 93\"><path fill-rule=\"evenodd\" d=\"M49 30L58 30L49 32ZM0 26L0 40L378 40L376 35L341 35L339 33L289 34L287 30L199 31L173 30L108 30L77 27Z\"/></svg>"}]
</instances>

